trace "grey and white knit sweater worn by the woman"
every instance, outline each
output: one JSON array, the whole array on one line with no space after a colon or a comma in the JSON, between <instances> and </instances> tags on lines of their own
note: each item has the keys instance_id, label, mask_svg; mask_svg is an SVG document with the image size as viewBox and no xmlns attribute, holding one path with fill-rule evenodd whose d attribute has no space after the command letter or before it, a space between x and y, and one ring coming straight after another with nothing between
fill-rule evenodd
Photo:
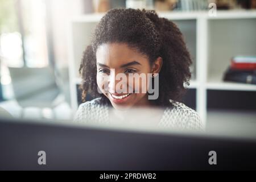
<instances>
[{"instance_id":1,"label":"grey and white knit sweater worn by the woman","mask_svg":"<svg viewBox=\"0 0 256 182\"><path fill-rule=\"evenodd\" d=\"M199 114L190 107L170 100L173 107L164 109L159 127L180 128L189 130L204 130L204 124ZM109 122L109 107L102 104L101 98L82 103L75 115L75 122L95 121L98 123Z\"/></svg>"}]
</instances>

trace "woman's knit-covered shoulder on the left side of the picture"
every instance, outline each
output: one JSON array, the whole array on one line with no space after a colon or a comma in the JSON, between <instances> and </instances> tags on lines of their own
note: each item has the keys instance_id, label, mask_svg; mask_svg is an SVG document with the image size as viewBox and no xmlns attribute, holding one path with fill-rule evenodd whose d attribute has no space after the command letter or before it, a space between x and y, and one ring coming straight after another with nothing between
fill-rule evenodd
<instances>
[{"instance_id":1,"label":"woman's knit-covered shoulder on the left side of the picture","mask_svg":"<svg viewBox=\"0 0 256 182\"><path fill-rule=\"evenodd\" d=\"M90 122L105 121L108 115L108 107L103 103L102 98L94 98L91 101L86 101L79 105L75 114L74 121L76 122Z\"/></svg>"}]
</instances>

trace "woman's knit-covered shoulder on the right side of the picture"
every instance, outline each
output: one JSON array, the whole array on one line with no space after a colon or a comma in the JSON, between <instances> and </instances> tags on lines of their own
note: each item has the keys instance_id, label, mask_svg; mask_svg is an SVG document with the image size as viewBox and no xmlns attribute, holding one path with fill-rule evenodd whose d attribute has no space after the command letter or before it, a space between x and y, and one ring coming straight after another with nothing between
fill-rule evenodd
<instances>
[{"instance_id":1,"label":"woman's knit-covered shoulder on the right side of the picture","mask_svg":"<svg viewBox=\"0 0 256 182\"><path fill-rule=\"evenodd\" d=\"M179 127L182 129L204 130L200 115L190 107L177 101L170 100L172 106L164 110L160 125L164 127Z\"/></svg>"}]
</instances>

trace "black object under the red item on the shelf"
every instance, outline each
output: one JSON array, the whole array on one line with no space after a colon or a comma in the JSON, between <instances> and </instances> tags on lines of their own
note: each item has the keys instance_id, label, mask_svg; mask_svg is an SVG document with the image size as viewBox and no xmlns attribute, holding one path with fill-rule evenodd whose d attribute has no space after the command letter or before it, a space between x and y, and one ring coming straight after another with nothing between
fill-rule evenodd
<instances>
[{"instance_id":1,"label":"black object under the red item on the shelf","mask_svg":"<svg viewBox=\"0 0 256 182\"><path fill-rule=\"evenodd\" d=\"M240 70L228 68L224 74L224 81L243 82L256 85L256 70Z\"/></svg>"}]
</instances>

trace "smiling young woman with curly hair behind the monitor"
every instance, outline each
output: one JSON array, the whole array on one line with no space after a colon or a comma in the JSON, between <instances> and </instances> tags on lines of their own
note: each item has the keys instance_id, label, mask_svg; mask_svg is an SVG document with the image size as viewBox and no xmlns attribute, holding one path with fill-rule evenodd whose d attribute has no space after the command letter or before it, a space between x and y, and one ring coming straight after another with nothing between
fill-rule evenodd
<instances>
[{"instance_id":1,"label":"smiling young woman with curly hair behind the monitor","mask_svg":"<svg viewBox=\"0 0 256 182\"><path fill-rule=\"evenodd\" d=\"M191 78L191 63L183 35L171 20L159 18L154 10L109 10L97 24L82 57L79 72L84 103L75 121L105 123L111 121L110 108L123 111L146 107L152 112L142 115L154 117L158 126L203 129L199 114L179 102L185 93L184 84L188 85ZM118 74L129 78L135 73L152 74L153 80L158 77L156 98L148 99L151 77L144 78L146 92L134 89L145 89L143 80L131 83L127 79L127 85L117 86L121 81L116 78ZM123 86L131 92L118 92ZM87 93L95 99L85 102ZM163 110L154 113L155 107Z\"/></svg>"}]
</instances>

